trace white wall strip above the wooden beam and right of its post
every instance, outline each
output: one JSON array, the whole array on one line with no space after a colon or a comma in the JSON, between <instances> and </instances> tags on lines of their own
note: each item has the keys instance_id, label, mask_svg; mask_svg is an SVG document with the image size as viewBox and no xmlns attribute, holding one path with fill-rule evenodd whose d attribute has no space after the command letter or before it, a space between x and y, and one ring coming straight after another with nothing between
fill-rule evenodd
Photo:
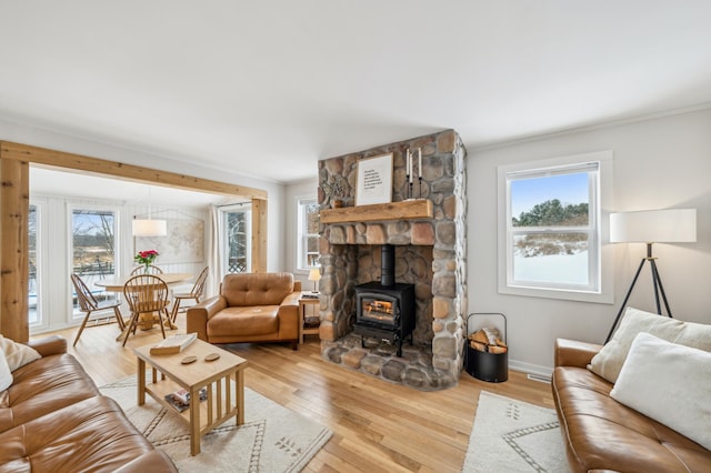
<instances>
[{"instance_id":1,"label":"white wall strip above the wooden beam and right of its post","mask_svg":"<svg viewBox=\"0 0 711 473\"><path fill-rule=\"evenodd\" d=\"M18 124L2 119L0 119L0 140L263 189L268 193L269 213L267 222L267 269L269 271L281 271L284 268L284 245L282 238L284 234L283 224L286 220L283 209L284 185L281 183L240 175L240 169L206 168L200 165L201 161L199 157L196 157L196 161L191 163L181 162L172 160L170 157L143 153L40 128ZM236 150L236 152L239 152L239 150Z\"/></svg>"}]
</instances>

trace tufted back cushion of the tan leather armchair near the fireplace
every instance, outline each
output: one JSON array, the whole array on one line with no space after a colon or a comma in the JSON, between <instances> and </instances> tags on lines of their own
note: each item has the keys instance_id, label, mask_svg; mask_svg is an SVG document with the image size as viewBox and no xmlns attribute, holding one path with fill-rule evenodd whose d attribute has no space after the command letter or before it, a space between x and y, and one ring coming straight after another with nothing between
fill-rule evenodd
<instances>
[{"instance_id":1,"label":"tufted back cushion of the tan leather armchair near the fireplace","mask_svg":"<svg viewBox=\"0 0 711 473\"><path fill-rule=\"evenodd\" d=\"M291 273L236 273L222 280L228 306L279 305L293 291Z\"/></svg>"}]
</instances>

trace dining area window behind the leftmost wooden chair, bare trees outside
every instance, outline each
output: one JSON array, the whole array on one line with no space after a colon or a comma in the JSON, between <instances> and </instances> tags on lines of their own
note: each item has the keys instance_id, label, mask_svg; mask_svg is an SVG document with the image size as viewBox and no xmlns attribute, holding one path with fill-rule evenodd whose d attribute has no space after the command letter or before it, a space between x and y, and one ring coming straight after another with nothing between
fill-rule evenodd
<instances>
[{"instance_id":1,"label":"dining area window behind the leftmost wooden chair, bare trees outside","mask_svg":"<svg viewBox=\"0 0 711 473\"><path fill-rule=\"evenodd\" d=\"M80 207L71 209L71 271L81 276L99 302L116 300L118 295L94 285L96 281L116 276L116 228L113 210ZM74 319L82 316L76 294L72 306Z\"/></svg>"}]
</instances>

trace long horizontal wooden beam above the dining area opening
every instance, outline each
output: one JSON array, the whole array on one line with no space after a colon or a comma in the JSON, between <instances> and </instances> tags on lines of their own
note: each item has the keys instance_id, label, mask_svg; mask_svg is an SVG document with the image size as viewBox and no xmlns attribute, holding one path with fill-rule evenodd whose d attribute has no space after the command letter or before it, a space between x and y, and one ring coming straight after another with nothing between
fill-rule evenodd
<instances>
[{"instance_id":1,"label":"long horizontal wooden beam above the dining area opening","mask_svg":"<svg viewBox=\"0 0 711 473\"><path fill-rule=\"evenodd\" d=\"M13 143L10 141L0 141L0 158L114 175L133 181L148 181L159 185L193 191L240 195L252 200L267 200L267 191L261 189L228 184L209 179L178 174L170 171L159 171L118 161L107 161L81 154Z\"/></svg>"}]
</instances>

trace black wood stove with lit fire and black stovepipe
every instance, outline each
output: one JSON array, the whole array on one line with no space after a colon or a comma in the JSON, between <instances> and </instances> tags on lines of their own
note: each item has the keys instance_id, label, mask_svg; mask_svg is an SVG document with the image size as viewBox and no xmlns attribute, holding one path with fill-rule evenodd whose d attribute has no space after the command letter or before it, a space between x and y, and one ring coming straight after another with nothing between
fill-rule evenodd
<instances>
[{"instance_id":1,"label":"black wood stove with lit fire and black stovepipe","mask_svg":"<svg viewBox=\"0 0 711 473\"><path fill-rule=\"evenodd\" d=\"M415 321L414 284L394 282L394 249L381 250L381 278L356 286L356 323L353 332L395 343L402 356L402 342L410 335Z\"/></svg>"}]
</instances>

